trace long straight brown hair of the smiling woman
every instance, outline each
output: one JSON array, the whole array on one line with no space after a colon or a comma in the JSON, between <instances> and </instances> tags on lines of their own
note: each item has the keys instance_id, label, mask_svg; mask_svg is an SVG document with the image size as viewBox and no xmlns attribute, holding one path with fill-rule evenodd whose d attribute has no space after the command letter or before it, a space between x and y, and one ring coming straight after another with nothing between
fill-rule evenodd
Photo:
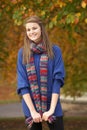
<instances>
[{"instance_id":1,"label":"long straight brown hair of the smiling woman","mask_svg":"<svg viewBox=\"0 0 87 130\"><path fill-rule=\"evenodd\" d=\"M38 16L31 16L25 20L24 26L30 22L37 23L41 27L41 33L42 33L41 35L42 35L43 44L47 50L48 57L52 58L53 57L52 44L49 41L48 35L42 23L42 20ZM23 46L23 63L24 64L29 63L30 55L31 55L30 40L27 37L26 31L25 31L24 46Z\"/></svg>"}]
</instances>

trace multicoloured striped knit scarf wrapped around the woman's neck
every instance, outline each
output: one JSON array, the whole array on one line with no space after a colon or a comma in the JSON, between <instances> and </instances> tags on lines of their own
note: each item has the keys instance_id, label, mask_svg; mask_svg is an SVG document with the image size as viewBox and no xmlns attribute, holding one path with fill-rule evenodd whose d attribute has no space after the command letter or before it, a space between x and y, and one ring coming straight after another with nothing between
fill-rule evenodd
<instances>
[{"instance_id":1,"label":"multicoloured striped knit scarf wrapped around the woman's neck","mask_svg":"<svg viewBox=\"0 0 87 130\"><path fill-rule=\"evenodd\" d=\"M26 65L26 70L28 74L28 80L30 83L31 92L33 99L35 101L37 111L42 114L47 110L47 65L48 65L48 56L46 54L46 49L43 46L43 43L35 44L31 43L31 56L30 62ZM34 64L33 53L41 54L40 57L40 88L37 82L37 74ZM48 122L53 122L54 117L50 116ZM33 124L32 117L26 119L26 124L31 127Z\"/></svg>"}]
</instances>

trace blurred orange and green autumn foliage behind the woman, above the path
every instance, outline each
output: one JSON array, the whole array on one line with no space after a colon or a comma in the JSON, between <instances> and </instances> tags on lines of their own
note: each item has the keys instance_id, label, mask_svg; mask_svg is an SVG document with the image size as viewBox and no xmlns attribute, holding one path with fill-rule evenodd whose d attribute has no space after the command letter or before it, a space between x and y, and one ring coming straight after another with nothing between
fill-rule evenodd
<instances>
[{"instance_id":1,"label":"blurred orange and green autumn foliage behind the woman, above the path","mask_svg":"<svg viewBox=\"0 0 87 130\"><path fill-rule=\"evenodd\" d=\"M87 0L0 0L0 104L20 102L17 54L23 22L31 15L42 18L51 42L62 50L66 78L61 100L86 104Z\"/></svg>"}]
</instances>

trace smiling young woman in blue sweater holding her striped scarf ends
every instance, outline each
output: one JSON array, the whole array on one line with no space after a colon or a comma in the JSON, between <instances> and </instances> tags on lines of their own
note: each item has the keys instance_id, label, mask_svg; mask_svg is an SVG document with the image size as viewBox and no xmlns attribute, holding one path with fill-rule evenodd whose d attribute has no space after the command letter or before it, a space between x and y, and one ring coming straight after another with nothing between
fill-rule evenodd
<instances>
[{"instance_id":1,"label":"smiling young woman in blue sweater holding her striped scarf ends","mask_svg":"<svg viewBox=\"0 0 87 130\"><path fill-rule=\"evenodd\" d=\"M41 19L27 18L24 46L18 52L18 94L22 95L25 122L30 130L64 130L60 88L64 85L61 50L48 39Z\"/></svg>"}]
</instances>

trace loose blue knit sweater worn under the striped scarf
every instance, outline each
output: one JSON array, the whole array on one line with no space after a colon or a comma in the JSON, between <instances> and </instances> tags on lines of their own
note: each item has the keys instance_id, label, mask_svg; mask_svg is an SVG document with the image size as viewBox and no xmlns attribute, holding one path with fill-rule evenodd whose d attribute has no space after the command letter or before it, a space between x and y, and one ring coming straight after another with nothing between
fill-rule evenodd
<instances>
[{"instance_id":1,"label":"loose blue knit sweater worn under the striped scarf","mask_svg":"<svg viewBox=\"0 0 87 130\"><path fill-rule=\"evenodd\" d=\"M17 87L17 93L20 95L30 93L31 98L31 90L30 90L30 84L27 77L26 72L26 66L22 63L22 51L21 48L18 52L18 59L17 59L17 81L18 81L18 87ZM50 108L50 102L51 102L51 96L52 93L58 93L60 94L60 88L64 85L64 77L65 77L65 70L64 70L64 63L62 59L62 53L58 46L53 46L53 52L54 52L54 58L48 60L48 76L47 76L47 109ZM38 77L38 86L40 87L40 56L41 54L34 54L34 62L36 67L36 73ZM32 98L32 101L34 103L34 100ZM35 104L34 104L35 105ZM25 103L25 101L22 99L22 107L23 112L25 116L30 116L30 111ZM58 99L55 112L55 116L62 116L62 108L60 103L60 97Z\"/></svg>"}]
</instances>

